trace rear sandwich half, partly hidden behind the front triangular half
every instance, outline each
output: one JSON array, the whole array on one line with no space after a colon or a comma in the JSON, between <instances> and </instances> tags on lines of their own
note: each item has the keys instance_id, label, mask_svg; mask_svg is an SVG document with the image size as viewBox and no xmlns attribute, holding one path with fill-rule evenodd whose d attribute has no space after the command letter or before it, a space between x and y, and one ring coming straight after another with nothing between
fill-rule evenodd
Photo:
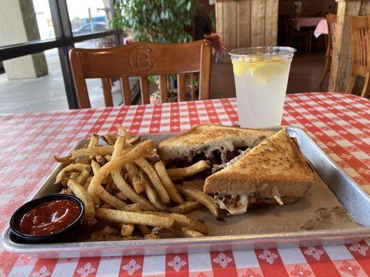
<instances>
[{"instance_id":1,"label":"rear sandwich half, partly hidden behind the front triangular half","mask_svg":"<svg viewBox=\"0 0 370 277\"><path fill-rule=\"evenodd\" d=\"M219 166L214 169L215 172L273 134L275 132L267 130L202 124L162 141L157 146L157 152L167 168L185 167L196 161L208 160L212 166Z\"/></svg>"}]
</instances>

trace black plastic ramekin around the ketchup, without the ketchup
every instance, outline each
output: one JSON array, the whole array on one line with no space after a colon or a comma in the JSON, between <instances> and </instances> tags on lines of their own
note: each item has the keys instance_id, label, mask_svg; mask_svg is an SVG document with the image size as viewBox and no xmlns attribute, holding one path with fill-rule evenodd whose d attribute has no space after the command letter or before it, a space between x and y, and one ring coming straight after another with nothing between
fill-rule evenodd
<instances>
[{"instance_id":1,"label":"black plastic ramekin around the ketchup, without the ketchup","mask_svg":"<svg viewBox=\"0 0 370 277\"><path fill-rule=\"evenodd\" d=\"M69 226L65 227L64 229L60 229L55 233L51 233L49 235L27 235L24 233L19 232L15 229L15 221L27 211L30 211L31 208L40 204L42 202L50 202L53 200L60 200L60 199L68 199L72 200L81 207L81 213L78 215L77 219L69 224ZM53 242L69 242L76 240L76 236L78 233L76 232L78 226L81 225L81 220L83 218L83 213L85 211L85 205L78 197L74 195L63 195L54 193L51 195L44 195L42 197L35 198L26 204L20 206L15 213L13 213L12 217L10 217L10 230L12 231L12 235L15 236L15 239L19 243L53 243Z\"/></svg>"}]
</instances>

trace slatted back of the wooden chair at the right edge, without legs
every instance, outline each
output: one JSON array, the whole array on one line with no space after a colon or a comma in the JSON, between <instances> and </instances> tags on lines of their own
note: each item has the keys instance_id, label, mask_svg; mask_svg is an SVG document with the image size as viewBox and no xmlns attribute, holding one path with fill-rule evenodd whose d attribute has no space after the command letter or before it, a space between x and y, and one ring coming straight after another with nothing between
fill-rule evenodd
<instances>
[{"instance_id":1,"label":"slatted back of the wooden chair at the right edge, without legs","mask_svg":"<svg viewBox=\"0 0 370 277\"><path fill-rule=\"evenodd\" d=\"M353 72L366 77L370 70L370 17L350 16Z\"/></svg>"}]
</instances>

